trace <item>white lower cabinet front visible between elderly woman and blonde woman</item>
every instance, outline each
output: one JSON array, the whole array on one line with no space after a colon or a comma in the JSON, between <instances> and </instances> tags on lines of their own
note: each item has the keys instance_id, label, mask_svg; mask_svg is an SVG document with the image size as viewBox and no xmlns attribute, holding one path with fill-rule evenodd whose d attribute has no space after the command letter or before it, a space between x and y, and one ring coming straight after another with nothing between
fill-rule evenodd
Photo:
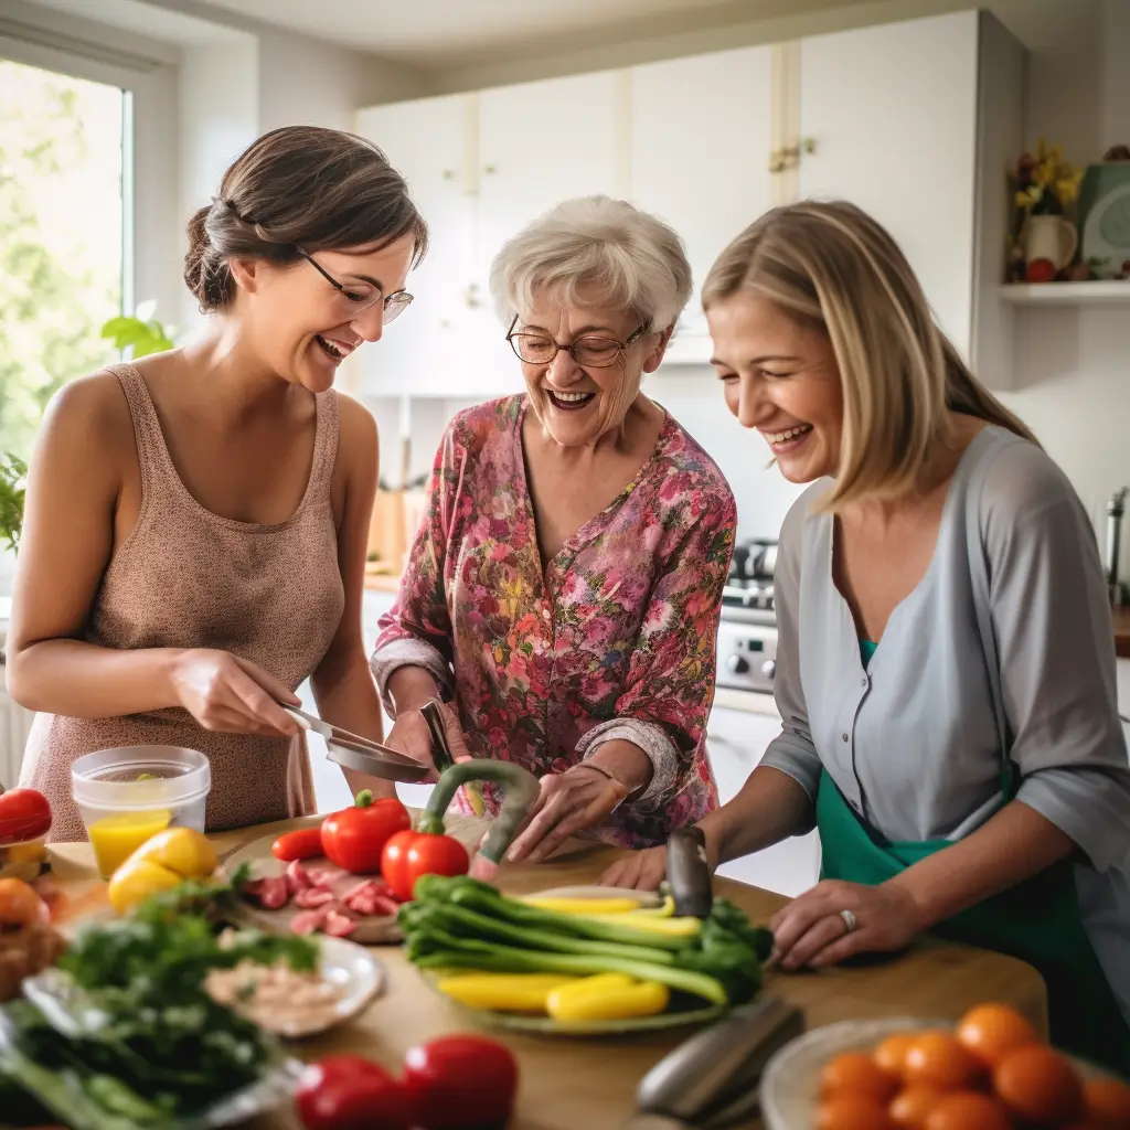
<instances>
[{"instance_id":1,"label":"white lower cabinet front visible between elderly woman and blonde woman","mask_svg":"<svg viewBox=\"0 0 1130 1130\"><path fill-rule=\"evenodd\" d=\"M732 800L781 732L773 715L715 706L706 742L722 803ZM772 847L723 863L719 875L794 897L814 886L820 873L820 842L815 832L790 836Z\"/></svg>"}]
</instances>

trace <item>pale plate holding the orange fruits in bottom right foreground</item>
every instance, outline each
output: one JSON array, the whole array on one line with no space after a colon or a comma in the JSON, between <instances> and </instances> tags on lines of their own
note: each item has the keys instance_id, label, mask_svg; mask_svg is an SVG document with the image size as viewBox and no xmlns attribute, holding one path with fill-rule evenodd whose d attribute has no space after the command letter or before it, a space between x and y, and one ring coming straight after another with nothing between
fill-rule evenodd
<instances>
[{"instance_id":1,"label":"pale plate holding the orange fruits in bottom right foreground","mask_svg":"<svg viewBox=\"0 0 1130 1130\"><path fill-rule=\"evenodd\" d=\"M785 1044L765 1066L762 1076L762 1118L766 1130L814 1130L820 1071L834 1055L870 1052L896 1032L953 1032L949 1020L923 1020L909 1016L878 1020L844 1020L829 1024ZM1068 1057L1085 1078L1105 1072Z\"/></svg>"}]
</instances>

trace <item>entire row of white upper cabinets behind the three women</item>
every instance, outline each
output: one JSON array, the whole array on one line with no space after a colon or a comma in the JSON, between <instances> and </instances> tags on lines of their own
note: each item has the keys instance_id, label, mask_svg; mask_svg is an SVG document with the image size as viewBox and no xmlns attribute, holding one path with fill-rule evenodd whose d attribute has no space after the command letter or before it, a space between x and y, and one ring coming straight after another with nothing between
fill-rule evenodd
<instances>
[{"instance_id":1,"label":"entire row of white upper cabinets behind the three women","mask_svg":"<svg viewBox=\"0 0 1130 1130\"><path fill-rule=\"evenodd\" d=\"M695 294L664 365L709 360L698 292L730 240L774 203L829 197L892 232L957 348L1007 386L999 284L1023 67L992 16L960 11L365 110L358 130L407 177L432 250L409 277L414 306L358 354L358 391L520 390L490 262L536 216L592 193L655 212L686 244Z\"/></svg>"}]
</instances>

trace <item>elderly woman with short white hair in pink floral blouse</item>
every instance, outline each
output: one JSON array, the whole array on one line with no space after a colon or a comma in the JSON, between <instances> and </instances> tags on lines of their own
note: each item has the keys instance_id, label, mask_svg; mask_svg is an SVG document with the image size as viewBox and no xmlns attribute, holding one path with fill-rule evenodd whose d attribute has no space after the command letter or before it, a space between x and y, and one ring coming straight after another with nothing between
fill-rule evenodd
<instances>
[{"instance_id":1,"label":"elderly woman with short white hair in pink floral blouse","mask_svg":"<svg viewBox=\"0 0 1130 1130\"><path fill-rule=\"evenodd\" d=\"M661 843L715 803L705 725L734 531L725 479L640 391L690 293L678 236L573 200L494 262L527 391L449 426L395 607L372 657L389 742L449 736L541 779L512 859L582 831ZM466 737L464 737L466 736ZM490 811L492 786L481 797Z\"/></svg>"}]
</instances>

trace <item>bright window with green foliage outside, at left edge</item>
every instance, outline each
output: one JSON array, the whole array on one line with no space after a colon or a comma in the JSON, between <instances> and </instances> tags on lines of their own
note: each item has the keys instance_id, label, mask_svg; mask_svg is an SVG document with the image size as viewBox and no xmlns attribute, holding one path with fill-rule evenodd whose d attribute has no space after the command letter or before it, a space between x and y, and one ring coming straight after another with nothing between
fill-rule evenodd
<instances>
[{"instance_id":1,"label":"bright window with green foliage outside, at left edge","mask_svg":"<svg viewBox=\"0 0 1130 1130\"><path fill-rule=\"evenodd\" d=\"M0 60L0 453L26 459L55 390L114 359L127 98Z\"/></svg>"}]
</instances>

